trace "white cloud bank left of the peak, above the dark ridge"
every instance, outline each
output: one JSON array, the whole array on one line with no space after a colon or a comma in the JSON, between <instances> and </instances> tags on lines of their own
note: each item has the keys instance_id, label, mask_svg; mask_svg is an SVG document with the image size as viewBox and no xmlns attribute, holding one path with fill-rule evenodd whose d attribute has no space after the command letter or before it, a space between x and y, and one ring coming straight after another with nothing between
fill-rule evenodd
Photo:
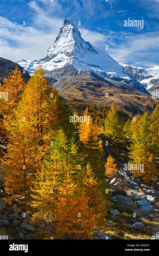
<instances>
[{"instance_id":1,"label":"white cloud bank left of the peak, above the dark ridge","mask_svg":"<svg viewBox=\"0 0 159 256\"><path fill-rule=\"evenodd\" d=\"M0 55L12 61L43 58L47 54L49 45L54 42L58 30L52 29L50 33L45 33L0 17Z\"/></svg>"}]
</instances>

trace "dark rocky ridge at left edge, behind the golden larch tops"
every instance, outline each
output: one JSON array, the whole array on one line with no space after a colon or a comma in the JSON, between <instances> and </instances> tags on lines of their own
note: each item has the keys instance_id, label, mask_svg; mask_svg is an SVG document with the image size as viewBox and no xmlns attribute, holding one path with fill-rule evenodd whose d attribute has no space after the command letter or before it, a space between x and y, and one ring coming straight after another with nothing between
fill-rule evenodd
<instances>
[{"instance_id":1,"label":"dark rocky ridge at left edge, behind the golden larch tops","mask_svg":"<svg viewBox=\"0 0 159 256\"><path fill-rule=\"evenodd\" d=\"M25 73L23 74L23 67L21 67L19 64L8 60L4 58L0 58L0 83L3 82L4 77L7 77L8 74L15 69L15 67L18 66L20 69L23 78L25 79L25 82L27 82L30 78L30 74L25 70Z\"/></svg>"}]
</instances>

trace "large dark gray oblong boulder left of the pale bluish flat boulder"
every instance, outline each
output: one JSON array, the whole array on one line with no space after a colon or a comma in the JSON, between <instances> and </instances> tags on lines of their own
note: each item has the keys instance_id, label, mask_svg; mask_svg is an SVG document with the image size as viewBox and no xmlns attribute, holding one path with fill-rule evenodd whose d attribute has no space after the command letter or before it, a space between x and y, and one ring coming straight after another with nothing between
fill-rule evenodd
<instances>
[{"instance_id":1,"label":"large dark gray oblong boulder left of the pale bluish flat boulder","mask_svg":"<svg viewBox=\"0 0 159 256\"><path fill-rule=\"evenodd\" d=\"M117 205L124 209L137 209L137 204L129 197L122 196L122 195L116 195L113 197L110 197L110 200L114 201Z\"/></svg>"}]
</instances>

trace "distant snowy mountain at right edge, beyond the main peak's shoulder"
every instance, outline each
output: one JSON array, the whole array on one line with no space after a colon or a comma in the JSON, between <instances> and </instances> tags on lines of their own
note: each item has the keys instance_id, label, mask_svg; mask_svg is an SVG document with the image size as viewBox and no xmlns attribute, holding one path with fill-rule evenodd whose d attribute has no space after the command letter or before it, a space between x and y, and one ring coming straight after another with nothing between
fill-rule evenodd
<instances>
[{"instance_id":1,"label":"distant snowy mountain at right edge, beyond the main peak's shoulder","mask_svg":"<svg viewBox=\"0 0 159 256\"><path fill-rule=\"evenodd\" d=\"M135 67L119 63L124 69L132 74L144 87L153 91L159 87L159 66L150 66L148 68Z\"/></svg>"}]
</instances>

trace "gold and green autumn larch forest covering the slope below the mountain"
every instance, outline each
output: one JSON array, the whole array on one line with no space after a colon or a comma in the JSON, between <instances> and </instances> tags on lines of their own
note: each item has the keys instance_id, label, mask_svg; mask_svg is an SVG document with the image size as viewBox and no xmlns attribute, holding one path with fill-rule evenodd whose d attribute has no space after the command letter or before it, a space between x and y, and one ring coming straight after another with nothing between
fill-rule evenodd
<instances>
[{"instance_id":1,"label":"gold and green autumn larch forest covering the slope below the mountain","mask_svg":"<svg viewBox=\"0 0 159 256\"><path fill-rule=\"evenodd\" d=\"M140 227L144 235L155 235L159 104L152 113L133 117L115 106L63 102L41 66L27 84L15 68L0 92L6 96L0 99L0 228L16 238L98 239L99 233L111 235L115 227L120 231L117 238L129 239L124 235L128 232L129 237L135 229L128 224L120 234L124 224L110 215L115 207L131 224L139 216L153 215L147 225L154 229L145 226L149 218L135 223L145 221ZM118 174L129 175L121 179ZM134 202L127 191L139 198ZM155 197L153 206L149 194ZM128 200L125 197L130 207L119 202ZM146 211L138 199L152 208ZM145 215L134 218L139 209ZM35 230L36 236L28 235Z\"/></svg>"}]
</instances>

